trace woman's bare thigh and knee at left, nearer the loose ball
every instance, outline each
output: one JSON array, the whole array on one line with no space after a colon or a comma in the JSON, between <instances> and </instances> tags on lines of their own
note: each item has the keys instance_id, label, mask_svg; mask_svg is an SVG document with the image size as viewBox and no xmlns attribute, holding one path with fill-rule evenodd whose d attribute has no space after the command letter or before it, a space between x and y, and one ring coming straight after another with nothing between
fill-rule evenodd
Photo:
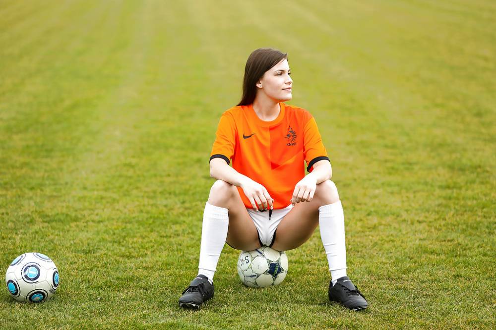
<instances>
[{"instance_id":1,"label":"woman's bare thigh and knee at left, nearer the loose ball","mask_svg":"<svg viewBox=\"0 0 496 330\"><path fill-rule=\"evenodd\" d=\"M248 215L236 186L222 180L215 181L210 190L208 203L229 210L229 228L226 238L229 245L246 251L260 247L258 231Z\"/></svg>"}]
</instances>

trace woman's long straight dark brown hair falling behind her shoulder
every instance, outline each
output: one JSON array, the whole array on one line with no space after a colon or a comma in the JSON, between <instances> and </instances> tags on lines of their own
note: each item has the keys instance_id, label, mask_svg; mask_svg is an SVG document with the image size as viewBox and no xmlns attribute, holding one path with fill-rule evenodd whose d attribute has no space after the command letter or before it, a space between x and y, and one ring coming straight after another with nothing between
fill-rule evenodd
<instances>
[{"instance_id":1,"label":"woman's long straight dark brown hair falling behind her shoulder","mask_svg":"<svg viewBox=\"0 0 496 330\"><path fill-rule=\"evenodd\" d=\"M243 78L243 96L238 106L248 106L253 103L256 96L256 82L267 70L284 58L288 58L287 53L281 53L273 48L259 48L248 56Z\"/></svg>"}]
</instances>

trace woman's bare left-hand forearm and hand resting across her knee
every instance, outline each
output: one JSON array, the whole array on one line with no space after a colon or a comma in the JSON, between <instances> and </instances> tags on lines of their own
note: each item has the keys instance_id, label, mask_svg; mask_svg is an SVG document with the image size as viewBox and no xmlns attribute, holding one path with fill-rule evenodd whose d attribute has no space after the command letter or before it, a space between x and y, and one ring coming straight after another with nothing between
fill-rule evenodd
<instances>
[{"instance_id":1,"label":"woman's bare left-hand forearm and hand resting across her knee","mask_svg":"<svg viewBox=\"0 0 496 330\"><path fill-rule=\"evenodd\" d=\"M248 176L239 173L236 169L229 166L224 159L214 158L210 161L210 176L217 180L226 181L232 185L241 187L248 197L254 211L258 211L258 209L273 209L274 200L270 197L267 189L250 179Z\"/></svg>"}]
</instances>

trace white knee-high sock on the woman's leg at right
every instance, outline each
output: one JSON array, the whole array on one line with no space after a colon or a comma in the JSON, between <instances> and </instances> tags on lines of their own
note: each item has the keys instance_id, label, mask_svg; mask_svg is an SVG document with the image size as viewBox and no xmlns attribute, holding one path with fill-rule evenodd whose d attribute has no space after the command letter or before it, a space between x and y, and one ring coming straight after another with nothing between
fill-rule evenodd
<instances>
[{"instance_id":1,"label":"white knee-high sock on the woman's leg at right","mask_svg":"<svg viewBox=\"0 0 496 330\"><path fill-rule=\"evenodd\" d=\"M339 277L346 276L346 243L344 238L344 213L341 201L318 208L320 237L324 244L332 285Z\"/></svg>"}]
</instances>

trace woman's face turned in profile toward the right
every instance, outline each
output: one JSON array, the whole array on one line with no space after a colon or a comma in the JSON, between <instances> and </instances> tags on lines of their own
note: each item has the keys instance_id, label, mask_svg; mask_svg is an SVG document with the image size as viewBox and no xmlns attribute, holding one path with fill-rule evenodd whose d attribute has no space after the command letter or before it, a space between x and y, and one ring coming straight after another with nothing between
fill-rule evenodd
<instances>
[{"instance_id":1,"label":"woman's face turned in profile toward the right","mask_svg":"<svg viewBox=\"0 0 496 330\"><path fill-rule=\"evenodd\" d=\"M265 71L263 77L256 84L257 94L264 93L267 97L277 102L289 101L292 98L291 89L293 79L290 77L291 69L285 58Z\"/></svg>"}]
</instances>

